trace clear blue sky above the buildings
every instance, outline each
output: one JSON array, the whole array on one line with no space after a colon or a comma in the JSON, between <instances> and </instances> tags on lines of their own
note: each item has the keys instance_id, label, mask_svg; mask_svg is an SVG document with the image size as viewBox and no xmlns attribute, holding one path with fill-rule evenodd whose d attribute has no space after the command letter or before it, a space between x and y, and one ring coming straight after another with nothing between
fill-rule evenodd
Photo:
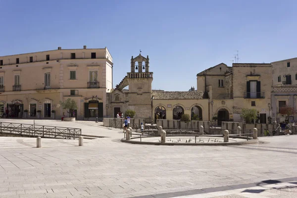
<instances>
[{"instance_id":1,"label":"clear blue sky above the buildings","mask_svg":"<svg viewBox=\"0 0 297 198\"><path fill-rule=\"evenodd\" d=\"M297 57L296 0L0 0L0 55L104 48L113 85L142 50L153 89L197 88L196 74L224 62Z\"/></svg>"}]
</instances>

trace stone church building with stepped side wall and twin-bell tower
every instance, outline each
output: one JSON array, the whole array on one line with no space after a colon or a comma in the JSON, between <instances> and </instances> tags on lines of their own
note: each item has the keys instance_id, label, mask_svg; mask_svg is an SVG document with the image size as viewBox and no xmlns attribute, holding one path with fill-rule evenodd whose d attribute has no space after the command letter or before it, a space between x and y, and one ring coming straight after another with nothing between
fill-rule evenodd
<instances>
[{"instance_id":1,"label":"stone church building with stepped side wall and twin-bell tower","mask_svg":"<svg viewBox=\"0 0 297 198\"><path fill-rule=\"evenodd\" d=\"M127 72L113 92L106 94L107 117L116 117L117 112L129 109L136 112L135 118L151 118L152 75L148 56L132 56L130 72ZM123 91L127 86L128 92Z\"/></svg>"}]
</instances>

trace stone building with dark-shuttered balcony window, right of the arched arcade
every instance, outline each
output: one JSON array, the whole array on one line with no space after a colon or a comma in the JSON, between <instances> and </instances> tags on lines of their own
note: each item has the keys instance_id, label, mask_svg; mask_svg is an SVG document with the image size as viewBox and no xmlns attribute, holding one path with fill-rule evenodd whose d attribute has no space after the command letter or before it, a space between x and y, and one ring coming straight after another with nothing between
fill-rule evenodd
<instances>
[{"instance_id":1,"label":"stone building with dark-shuttered balcony window, right of the arched arcade","mask_svg":"<svg viewBox=\"0 0 297 198\"><path fill-rule=\"evenodd\" d=\"M266 123L272 91L272 66L259 63L221 63L197 74L198 91L209 97L209 120L241 121L242 108L259 111L260 122Z\"/></svg>"}]
</instances>

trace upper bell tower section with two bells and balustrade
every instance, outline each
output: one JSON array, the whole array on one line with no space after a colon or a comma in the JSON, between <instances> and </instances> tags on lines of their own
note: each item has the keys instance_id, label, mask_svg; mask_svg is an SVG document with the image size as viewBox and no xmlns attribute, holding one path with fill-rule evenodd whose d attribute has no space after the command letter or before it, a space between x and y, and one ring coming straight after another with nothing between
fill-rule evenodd
<instances>
[{"instance_id":1,"label":"upper bell tower section with two bells and balustrade","mask_svg":"<svg viewBox=\"0 0 297 198\"><path fill-rule=\"evenodd\" d=\"M136 72L137 70L137 72ZM139 53L131 58L131 72L127 73L129 82L129 93L151 93L152 74L149 72L149 58Z\"/></svg>"}]
</instances>

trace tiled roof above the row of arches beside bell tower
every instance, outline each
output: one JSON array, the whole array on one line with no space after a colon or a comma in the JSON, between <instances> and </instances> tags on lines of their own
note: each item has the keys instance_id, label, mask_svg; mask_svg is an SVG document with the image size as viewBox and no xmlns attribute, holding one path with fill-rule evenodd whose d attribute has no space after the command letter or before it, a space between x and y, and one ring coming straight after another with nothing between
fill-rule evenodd
<instances>
[{"instance_id":1,"label":"tiled roof above the row of arches beside bell tower","mask_svg":"<svg viewBox=\"0 0 297 198\"><path fill-rule=\"evenodd\" d=\"M203 95L201 91L152 93L153 99L203 99Z\"/></svg>"}]
</instances>

